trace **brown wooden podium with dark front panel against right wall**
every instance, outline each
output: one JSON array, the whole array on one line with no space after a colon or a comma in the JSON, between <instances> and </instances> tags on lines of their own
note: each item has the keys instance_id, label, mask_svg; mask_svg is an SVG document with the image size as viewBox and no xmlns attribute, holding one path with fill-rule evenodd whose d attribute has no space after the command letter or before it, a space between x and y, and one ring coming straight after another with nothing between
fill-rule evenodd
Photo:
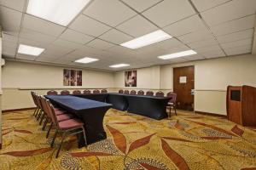
<instances>
[{"instance_id":1,"label":"brown wooden podium with dark front panel against right wall","mask_svg":"<svg viewBox=\"0 0 256 170\"><path fill-rule=\"evenodd\" d=\"M256 127L256 88L228 86L227 114L231 122Z\"/></svg>"}]
</instances>

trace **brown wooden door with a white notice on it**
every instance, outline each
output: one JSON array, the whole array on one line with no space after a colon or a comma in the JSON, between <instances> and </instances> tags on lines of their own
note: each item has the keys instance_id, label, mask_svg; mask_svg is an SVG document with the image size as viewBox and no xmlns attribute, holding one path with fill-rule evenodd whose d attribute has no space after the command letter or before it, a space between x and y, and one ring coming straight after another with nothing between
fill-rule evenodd
<instances>
[{"instance_id":1,"label":"brown wooden door with a white notice on it","mask_svg":"<svg viewBox=\"0 0 256 170\"><path fill-rule=\"evenodd\" d=\"M177 108L194 110L194 66L173 68L173 92L177 94Z\"/></svg>"}]
</instances>

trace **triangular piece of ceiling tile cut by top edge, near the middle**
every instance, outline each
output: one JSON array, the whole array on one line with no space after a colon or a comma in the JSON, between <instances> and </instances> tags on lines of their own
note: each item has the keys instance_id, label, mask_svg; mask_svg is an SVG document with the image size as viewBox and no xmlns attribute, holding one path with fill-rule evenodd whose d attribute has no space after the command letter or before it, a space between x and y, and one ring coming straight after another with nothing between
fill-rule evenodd
<instances>
[{"instance_id":1,"label":"triangular piece of ceiling tile cut by top edge, near the middle","mask_svg":"<svg viewBox=\"0 0 256 170\"><path fill-rule=\"evenodd\" d=\"M131 8L134 8L138 12L142 12L143 10L153 6L155 3L159 3L162 0L121 0Z\"/></svg>"}]
</instances>

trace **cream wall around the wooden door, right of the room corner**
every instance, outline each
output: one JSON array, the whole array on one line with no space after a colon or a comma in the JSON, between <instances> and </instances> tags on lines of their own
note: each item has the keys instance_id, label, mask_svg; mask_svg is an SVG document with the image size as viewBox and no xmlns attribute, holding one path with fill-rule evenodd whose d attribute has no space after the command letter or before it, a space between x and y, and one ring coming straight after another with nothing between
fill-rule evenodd
<instances>
[{"instance_id":1,"label":"cream wall around the wooden door, right of the room corner","mask_svg":"<svg viewBox=\"0 0 256 170\"><path fill-rule=\"evenodd\" d=\"M256 56L251 54L237 55L226 58L207 59L185 62L181 64L161 65L160 88L154 87L154 91L172 91L173 67L195 65L195 111L226 115L225 99L228 85L250 85L256 87ZM137 89L150 88L148 84L154 77L152 67L137 70ZM139 77L143 72L145 77ZM151 78L150 78L151 77ZM124 87L124 71L114 75L115 86ZM157 84L157 83L156 83Z\"/></svg>"}]
</instances>

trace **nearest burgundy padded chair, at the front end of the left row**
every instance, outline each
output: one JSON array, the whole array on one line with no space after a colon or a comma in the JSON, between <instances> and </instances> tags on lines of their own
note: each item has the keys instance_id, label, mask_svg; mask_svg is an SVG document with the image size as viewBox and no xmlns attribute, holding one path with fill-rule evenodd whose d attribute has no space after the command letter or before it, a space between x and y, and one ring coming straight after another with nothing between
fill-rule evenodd
<instances>
[{"instance_id":1,"label":"nearest burgundy padded chair, at the front end of the left row","mask_svg":"<svg viewBox=\"0 0 256 170\"><path fill-rule=\"evenodd\" d=\"M53 137L53 139L51 141L51 144L50 144L51 147L54 146L55 138L56 138L57 134L62 133L62 135L61 135L61 144L59 145L59 148L57 150L57 153L56 153L55 157L57 158L59 156L63 140L67 136L67 133L68 133L68 135L83 133L84 142L85 142L85 145L87 145L85 130L84 130L84 122L81 122L79 119L76 119L76 118L72 118L72 119L68 119L66 121L59 122L58 119L57 119L57 116L55 114L55 110L54 110L53 105L51 105L49 103L49 100L47 102L49 104L49 113L50 113L50 116L51 116L52 126L55 127L55 134L54 134L54 137Z\"/></svg>"}]
</instances>

